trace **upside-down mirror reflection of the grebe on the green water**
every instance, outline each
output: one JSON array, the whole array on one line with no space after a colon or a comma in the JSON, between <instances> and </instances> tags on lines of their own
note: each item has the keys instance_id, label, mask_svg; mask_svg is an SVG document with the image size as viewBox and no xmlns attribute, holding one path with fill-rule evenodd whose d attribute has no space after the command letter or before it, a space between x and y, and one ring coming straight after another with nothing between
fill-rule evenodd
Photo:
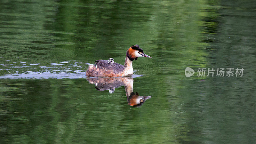
<instances>
[{"instance_id":1,"label":"upside-down mirror reflection of the grebe on the green water","mask_svg":"<svg viewBox=\"0 0 256 144\"><path fill-rule=\"evenodd\" d=\"M127 102L132 107L140 107L145 100L151 96L139 96L138 92L133 92L133 78L132 77L97 77L87 78L90 84L94 84L98 91L108 90L109 93L115 92L115 88L124 85Z\"/></svg>"}]
</instances>

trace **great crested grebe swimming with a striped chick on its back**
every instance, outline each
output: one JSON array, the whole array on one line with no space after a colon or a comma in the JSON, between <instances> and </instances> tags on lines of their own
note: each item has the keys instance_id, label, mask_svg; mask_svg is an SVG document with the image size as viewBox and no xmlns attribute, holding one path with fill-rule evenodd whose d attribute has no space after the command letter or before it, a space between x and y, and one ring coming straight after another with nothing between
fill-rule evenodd
<instances>
[{"instance_id":1,"label":"great crested grebe swimming with a striped chick on its back","mask_svg":"<svg viewBox=\"0 0 256 144\"><path fill-rule=\"evenodd\" d=\"M94 65L89 65L86 70L86 76L131 76L133 74L132 61L137 60L138 57L148 57L139 45L132 45L126 51L124 65L114 62L112 58L109 60L96 60Z\"/></svg>"}]
</instances>

